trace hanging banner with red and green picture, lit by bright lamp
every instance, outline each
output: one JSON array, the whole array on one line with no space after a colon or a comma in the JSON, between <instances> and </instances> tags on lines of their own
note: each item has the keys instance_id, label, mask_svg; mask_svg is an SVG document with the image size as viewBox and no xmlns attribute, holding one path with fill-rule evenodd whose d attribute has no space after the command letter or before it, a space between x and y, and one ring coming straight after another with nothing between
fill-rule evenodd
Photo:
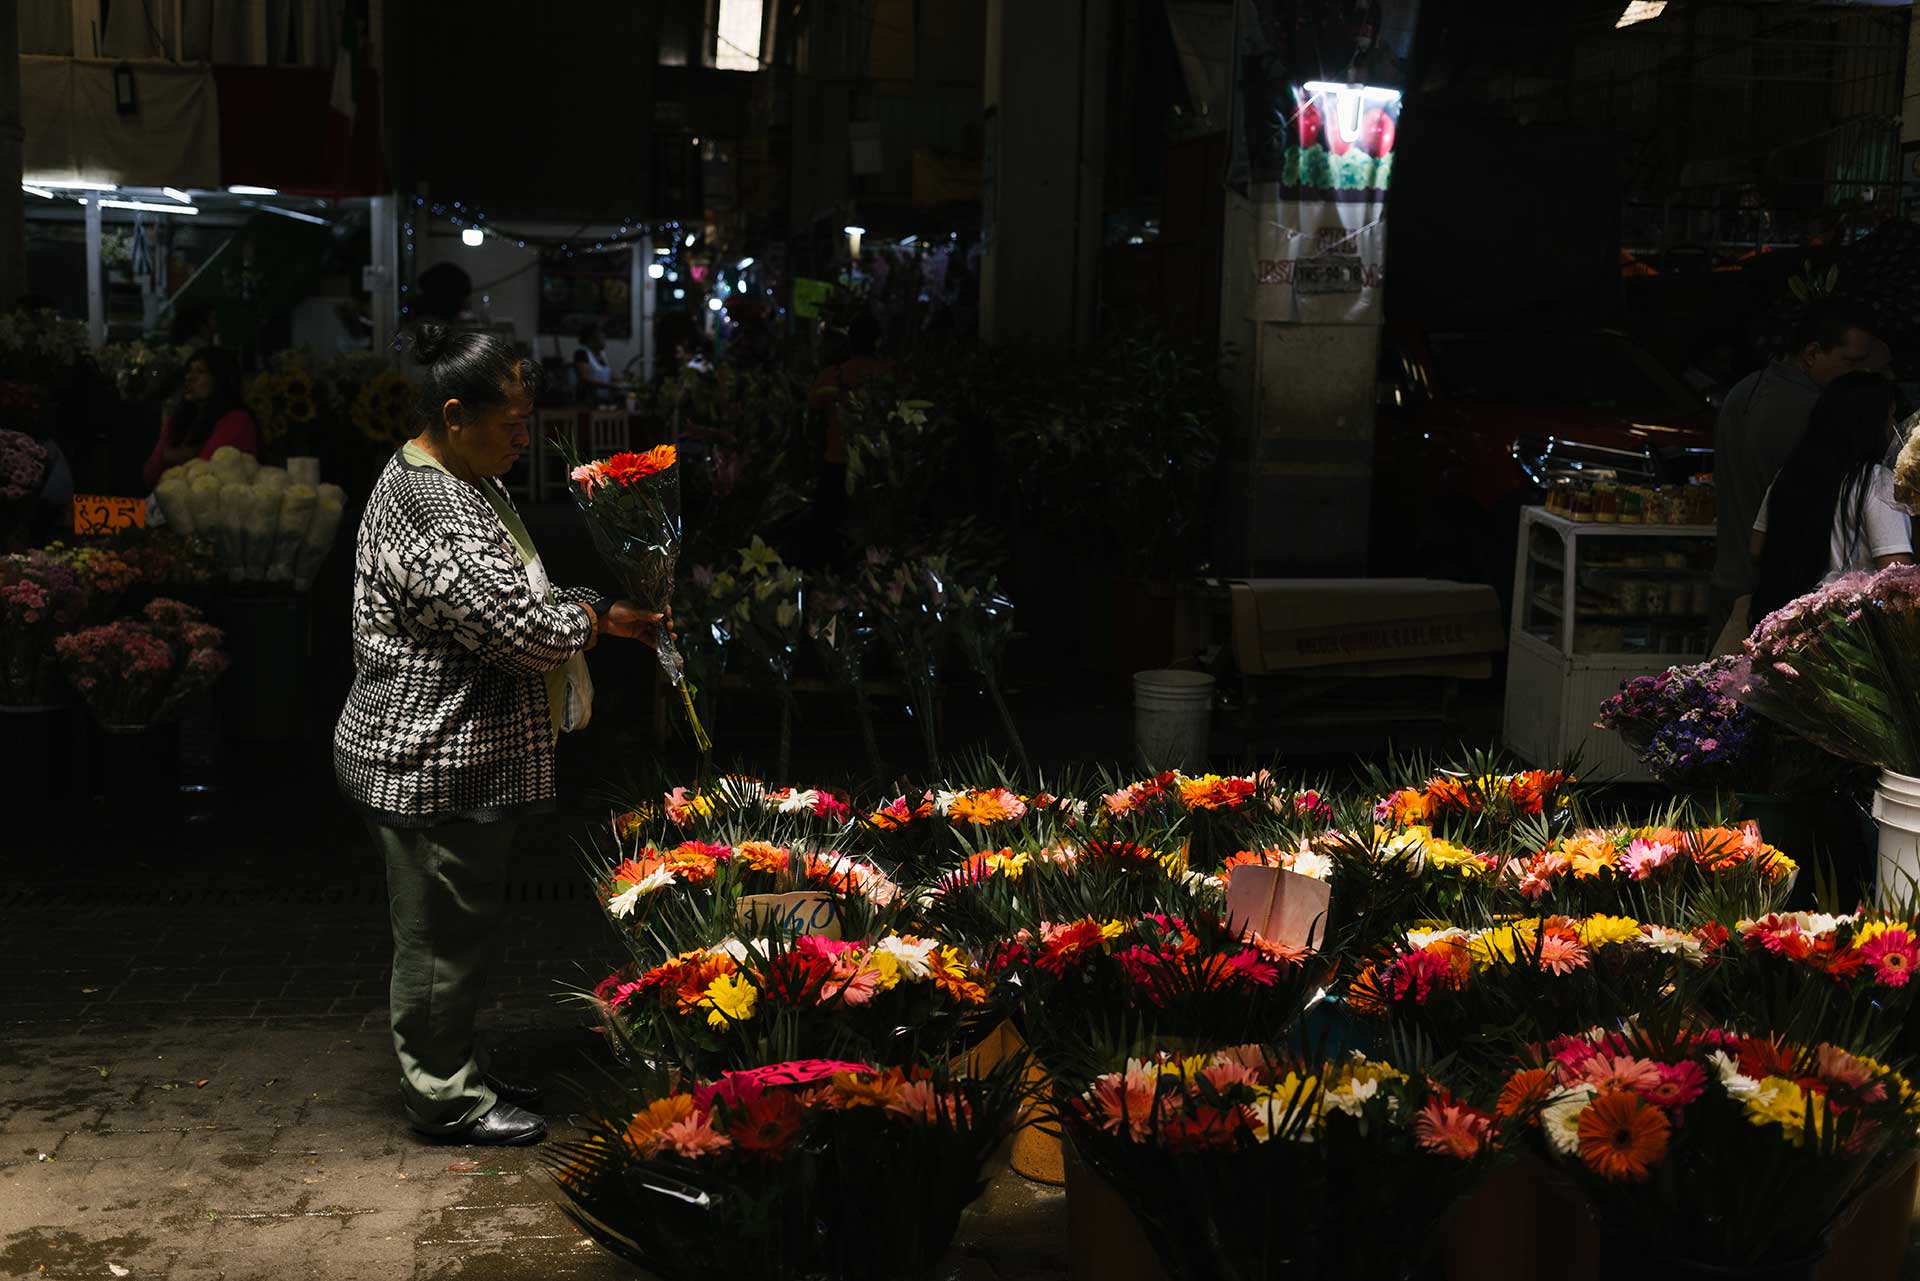
<instances>
[{"instance_id":1,"label":"hanging banner with red and green picture, lit by bright lamp","mask_svg":"<svg viewBox=\"0 0 1920 1281\"><path fill-rule=\"evenodd\" d=\"M1260 321L1377 325L1419 0L1244 0L1235 169Z\"/></svg>"}]
</instances>

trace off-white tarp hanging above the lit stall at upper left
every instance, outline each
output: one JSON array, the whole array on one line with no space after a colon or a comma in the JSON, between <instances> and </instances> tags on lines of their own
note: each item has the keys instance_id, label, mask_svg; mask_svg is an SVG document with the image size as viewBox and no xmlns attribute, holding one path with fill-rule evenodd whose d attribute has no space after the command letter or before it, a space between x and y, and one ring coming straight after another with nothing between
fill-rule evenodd
<instances>
[{"instance_id":1,"label":"off-white tarp hanging above the lit stall at upper left","mask_svg":"<svg viewBox=\"0 0 1920 1281\"><path fill-rule=\"evenodd\" d=\"M132 63L138 109L121 115L102 58L21 58L21 169L125 186L221 184L219 92L205 63Z\"/></svg>"}]
</instances>

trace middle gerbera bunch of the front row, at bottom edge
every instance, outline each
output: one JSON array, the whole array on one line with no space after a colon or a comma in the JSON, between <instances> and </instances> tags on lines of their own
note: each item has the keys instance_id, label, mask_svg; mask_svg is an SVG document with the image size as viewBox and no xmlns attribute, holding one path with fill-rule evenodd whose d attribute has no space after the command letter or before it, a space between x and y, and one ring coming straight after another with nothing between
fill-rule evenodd
<instances>
[{"instance_id":1,"label":"middle gerbera bunch of the front row, at bottom edge","mask_svg":"<svg viewBox=\"0 0 1920 1281\"><path fill-rule=\"evenodd\" d=\"M1129 1058L1060 1116L1179 1281L1417 1275L1500 1150L1496 1120L1427 1074L1263 1047Z\"/></svg>"}]
</instances>

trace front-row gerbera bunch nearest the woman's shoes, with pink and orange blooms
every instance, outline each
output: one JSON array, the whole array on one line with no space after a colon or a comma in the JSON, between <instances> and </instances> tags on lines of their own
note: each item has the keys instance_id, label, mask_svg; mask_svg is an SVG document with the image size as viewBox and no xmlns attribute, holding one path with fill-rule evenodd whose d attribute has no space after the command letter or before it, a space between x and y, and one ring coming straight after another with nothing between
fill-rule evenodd
<instances>
[{"instance_id":1,"label":"front-row gerbera bunch nearest the woman's shoes, with pink and orange blooms","mask_svg":"<svg viewBox=\"0 0 1920 1281\"><path fill-rule=\"evenodd\" d=\"M904 1281L933 1273L1021 1102L1018 1062L781 1062L607 1100L547 1168L582 1231L662 1281Z\"/></svg>"}]
</instances>

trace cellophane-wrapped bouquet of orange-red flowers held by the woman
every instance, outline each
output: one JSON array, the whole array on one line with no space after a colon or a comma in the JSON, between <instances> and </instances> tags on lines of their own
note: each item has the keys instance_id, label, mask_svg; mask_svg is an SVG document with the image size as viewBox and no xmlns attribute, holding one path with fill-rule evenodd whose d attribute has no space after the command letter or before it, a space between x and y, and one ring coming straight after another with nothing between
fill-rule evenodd
<instances>
[{"instance_id":1,"label":"cellophane-wrapped bouquet of orange-red flowers held by the woman","mask_svg":"<svg viewBox=\"0 0 1920 1281\"><path fill-rule=\"evenodd\" d=\"M674 599L674 567L680 563L682 542L678 451L674 446L655 446L645 453L624 451L582 463L570 442L563 440L561 449L570 467L574 501L588 519L588 532L607 568L637 605L666 613ZM687 661L680 655L672 630L660 628L653 651L660 657L660 670L680 689L695 745L710 751L712 743L693 711Z\"/></svg>"}]
</instances>

